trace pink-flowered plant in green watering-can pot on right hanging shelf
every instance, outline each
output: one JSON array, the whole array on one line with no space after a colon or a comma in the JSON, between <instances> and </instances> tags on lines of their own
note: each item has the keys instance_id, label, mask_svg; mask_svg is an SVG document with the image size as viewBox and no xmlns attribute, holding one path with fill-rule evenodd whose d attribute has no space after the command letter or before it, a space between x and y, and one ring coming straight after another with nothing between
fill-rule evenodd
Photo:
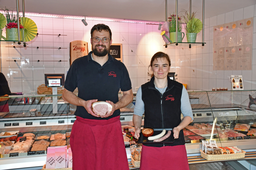
<instances>
[{"instance_id":1,"label":"pink-flowered plant in green watering-can pot on right hanging shelf","mask_svg":"<svg viewBox=\"0 0 256 170\"><path fill-rule=\"evenodd\" d=\"M172 41L171 43L181 43L183 38L184 38L184 33L181 32L182 29L182 24L181 24L181 17L177 16L178 18L178 42L176 42L176 15L172 14L170 15L169 19L169 32L170 32L170 40ZM183 34L183 36L182 36Z\"/></svg>"}]
</instances>

